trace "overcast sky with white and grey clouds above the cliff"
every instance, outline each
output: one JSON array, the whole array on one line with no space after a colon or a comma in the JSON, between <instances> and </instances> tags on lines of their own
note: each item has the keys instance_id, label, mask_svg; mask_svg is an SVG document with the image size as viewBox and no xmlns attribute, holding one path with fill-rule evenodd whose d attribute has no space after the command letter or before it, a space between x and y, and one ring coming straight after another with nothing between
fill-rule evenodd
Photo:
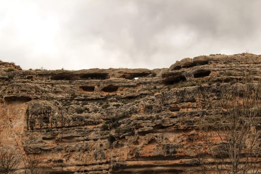
<instances>
[{"instance_id":1,"label":"overcast sky with white and grey clouds above the cliff","mask_svg":"<svg viewBox=\"0 0 261 174\"><path fill-rule=\"evenodd\" d=\"M0 0L0 60L23 69L163 68L261 54L261 0Z\"/></svg>"}]
</instances>

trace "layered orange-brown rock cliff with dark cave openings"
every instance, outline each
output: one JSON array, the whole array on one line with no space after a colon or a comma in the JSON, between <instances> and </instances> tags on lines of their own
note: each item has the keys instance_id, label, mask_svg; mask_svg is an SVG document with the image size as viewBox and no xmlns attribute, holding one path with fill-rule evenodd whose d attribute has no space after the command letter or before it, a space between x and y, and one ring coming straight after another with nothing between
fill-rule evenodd
<instances>
[{"instance_id":1,"label":"layered orange-brown rock cliff with dark cave openings","mask_svg":"<svg viewBox=\"0 0 261 174\"><path fill-rule=\"evenodd\" d=\"M222 88L246 71L260 77L261 55L154 70L25 71L0 62L0 145L35 156L50 174L196 173L198 120L217 114Z\"/></svg>"}]
</instances>

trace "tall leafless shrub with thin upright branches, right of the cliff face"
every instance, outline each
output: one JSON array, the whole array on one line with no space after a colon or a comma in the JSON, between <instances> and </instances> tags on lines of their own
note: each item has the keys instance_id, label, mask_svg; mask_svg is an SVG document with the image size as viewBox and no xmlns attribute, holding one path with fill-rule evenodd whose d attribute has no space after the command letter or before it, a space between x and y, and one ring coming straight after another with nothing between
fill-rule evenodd
<instances>
[{"instance_id":1,"label":"tall leafless shrub with thin upright branches, right of the cliff face","mask_svg":"<svg viewBox=\"0 0 261 174\"><path fill-rule=\"evenodd\" d=\"M261 83L248 80L221 92L216 120L203 118L203 174L260 174Z\"/></svg>"}]
</instances>

